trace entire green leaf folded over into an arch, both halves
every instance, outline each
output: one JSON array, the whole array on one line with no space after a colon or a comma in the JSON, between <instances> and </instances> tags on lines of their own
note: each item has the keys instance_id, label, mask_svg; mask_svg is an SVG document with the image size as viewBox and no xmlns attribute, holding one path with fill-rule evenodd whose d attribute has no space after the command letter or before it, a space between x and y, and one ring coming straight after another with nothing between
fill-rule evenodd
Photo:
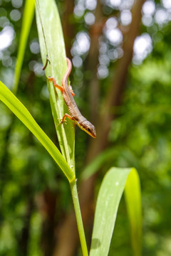
<instances>
[{"instance_id":1,"label":"entire green leaf folded over into an arch, both halves","mask_svg":"<svg viewBox=\"0 0 171 256\"><path fill-rule=\"evenodd\" d=\"M97 205L95 207L95 220L93 225L90 256L108 255L110 241L115 227L115 219L118 212L118 206L125 188L125 183L127 184L125 188L125 194L127 196L127 200L129 201L127 203L127 206L129 206L128 215L131 215L130 219L133 222L133 225L131 225L131 232L135 235L139 233L138 238L135 238L135 236L132 236L132 238L134 238L133 242L135 242L136 245L138 243L137 248L138 252L140 252L142 219L139 186L140 184L138 182L138 173L133 168L111 168L107 172L107 174L105 174L105 177L103 178L103 183L100 186L100 191L98 193ZM135 189L132 190L132 188ZM129 196L128 194L130 193L130 191L133 191L131 193L131 196ZM138 195L136 194L136 192L138 193ZM135 205L136 203L138 203L138 206L131 208L132 202ZM135 233L135 231L137 233ZM135 255L140 256L140 254Z\"/></svg>"}]
</instances>

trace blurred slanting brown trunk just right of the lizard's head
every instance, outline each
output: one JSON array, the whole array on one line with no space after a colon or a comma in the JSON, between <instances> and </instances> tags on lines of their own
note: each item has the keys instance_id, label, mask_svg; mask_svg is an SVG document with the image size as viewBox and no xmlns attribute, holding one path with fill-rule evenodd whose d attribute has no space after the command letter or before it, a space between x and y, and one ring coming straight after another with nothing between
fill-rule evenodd
<instances>
[{"instance_id":1,"label":"blurred slanting brown trunk just right of the lizard's head","mask_svg":"<svg viewBox=\"0 0 171 256\"><path fill-rule=\"evenodd\" d=\"M95 143L92 143L90 150L88 151L88 161L94 158L100 153L108 144L108 132L110 131L110 124L115 117L114 107L120 105L122 102L123 92L126 86L126 78L128 74L128 67L133 58L133 44L135 38L138 36L140 21L141 21L141 9L145 0L135 1L135 5L132 10L132 23L127 34L125 34L125 40L123 44L123 58L118 61L118 67L115 70L113 82L111 83L110 90L105 99L103 106L103 112L100 113L97 126L97 139Z\"/></svg>"}]
</instances>

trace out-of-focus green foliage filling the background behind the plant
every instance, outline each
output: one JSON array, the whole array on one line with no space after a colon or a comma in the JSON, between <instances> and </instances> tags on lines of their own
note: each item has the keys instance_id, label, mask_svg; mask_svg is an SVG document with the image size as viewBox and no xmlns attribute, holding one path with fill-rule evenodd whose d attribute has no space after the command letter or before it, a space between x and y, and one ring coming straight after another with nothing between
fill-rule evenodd
<instances>
[{"instance_id":1,"label":"out-of-focus green foliage filling the background behind the plant","mask_svg":"<svg viewBox=\"0 0 171 256\"><path fill-rule=\"evenodd\" d=\"M164 2L155 1L155 12L158 9L165 9L162 5ZM57 4L63 20L64 2L58 1ZM18 16L12 16L11 12L14 10L19 11L16 12ZM9 25L15 31L11 45L0 50L0 78L9 88L13 84L23 11L22 1L0 1L0 33ZM103 12L105 16L113 14L107 4ZM77 32L88 31L83 15L72 16L71 21ZM98 191L101 179L110 166L134 166L139 171L142 186L142 255L169 256L170 20L163 23L154 21L148 26L142 25L140 32L148 33L152 38L152 52L142 63L133 63L129 69L123 104L117 108L118 118L113 120L109 134L109 148L114 147L115 150L113 157L103 164L96 181L95 192ZM85 59L86 54L82 58ZM46 78L41 68L34 19L17 96L46 134L57 144ZM109 75L100 80L102 98L110 82L110 72L114 69L115 62L112 61L108 66ZM83 66L75 68L71 75L76 101L83 114L88 109L88 95L86 88L82 86L83 78L86 80L87 77L88 71L84 70ZM79 176L84 167L88 137L76 129L76 138L76 170ZM44 201L45 198L52 201L52 209L49 209L52 218L49 222L51 225L58 225L63 220L63 215L71 208L68 183L61 172L56 171L56 164L51 156L48 156L28 129L11 116L11 112L3 104L0 104L0 190L0 256L45 255L45 244L51 244L53 234L49 235L47 231L46 242L41 240L42 223L46 218ZM114 252L115 256L132 255L128 234L128 217L122 200L109 255L112 256Z\"/></svg>"}]
</instances>

